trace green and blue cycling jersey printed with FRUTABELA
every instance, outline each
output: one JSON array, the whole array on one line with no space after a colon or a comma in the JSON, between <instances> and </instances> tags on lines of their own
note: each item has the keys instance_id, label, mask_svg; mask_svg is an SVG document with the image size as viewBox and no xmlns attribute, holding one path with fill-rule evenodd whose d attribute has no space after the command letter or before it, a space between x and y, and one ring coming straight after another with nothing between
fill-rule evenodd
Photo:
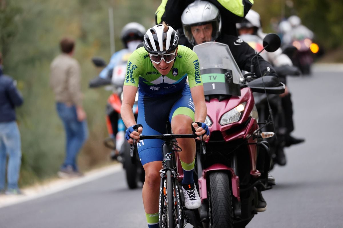
<instances>
[{"instance_id":1,"label":"green and blue cycling jersey printed with FRUTABELA","mask_svg":"<svg viewBox=\"0 0 343 228\"><path fill-rule=\"evenodd\" d=\"M171 71L163 76L150 61L144 47L135 50L129 57L124 85L138 86L145 96L156 97L184 89L188 77L189 86L202 85L199 59L195 52L179 45Z\"/></svg>"}]
</instances>

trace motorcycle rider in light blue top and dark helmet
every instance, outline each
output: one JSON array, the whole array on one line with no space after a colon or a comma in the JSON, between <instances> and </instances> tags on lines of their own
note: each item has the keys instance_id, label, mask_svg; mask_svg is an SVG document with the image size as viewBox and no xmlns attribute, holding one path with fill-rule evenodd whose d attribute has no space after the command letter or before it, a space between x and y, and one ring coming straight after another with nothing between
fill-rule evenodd
<instances>
[{"instance_id":1,"label":"motorcycle rider in light blue top and dark helmet","mask_svg":"<svg viewBox=\"0 0 343 228\"><path fill-rule=\"evenodd\" d=\"M112 77L116 76L119 80L124 80L128 58L131 53L136 50L138 44L143 42L145 31L144 26L137 22L128 23L122 28L120 38L125 48L117 51L111 56L108 65L100 72L99 78L114 81ZM113 118L112 124L114 126L113 135L111 135L111 137L116 139L117 133L119 131L124 131L125 129L123 128L124 124L119 120L119 115L116 115ZM114 151L114 154L111 154L112 159L116 159L119 155L119 150L123 142L124 140L120 140L120 142L118 140L116 142L116 150Z\"/></svg>"}]
</instances>

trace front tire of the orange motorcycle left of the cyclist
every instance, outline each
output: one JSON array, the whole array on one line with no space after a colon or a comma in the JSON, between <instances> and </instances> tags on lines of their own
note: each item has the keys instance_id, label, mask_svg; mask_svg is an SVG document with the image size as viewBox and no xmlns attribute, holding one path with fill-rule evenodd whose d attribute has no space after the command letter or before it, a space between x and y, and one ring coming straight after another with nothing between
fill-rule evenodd
<instances>
[{"instance_id":1,"label":"front tire of the orange motorcycle left of the cyclist","mask_svg":"<svg viewBox=\"0 0 343 228\"><path fill-rule=\"evenodd\" d=\"M130 156L131 145L128 143L125 143L123 147L124 147L124 151L123 151L124 164L123 165L125 169L126 182L130 189L135 189L137 188L138 181L139 181L137 164L132 164L131 162L131 156Z\"/></svg>"}]
</instances>

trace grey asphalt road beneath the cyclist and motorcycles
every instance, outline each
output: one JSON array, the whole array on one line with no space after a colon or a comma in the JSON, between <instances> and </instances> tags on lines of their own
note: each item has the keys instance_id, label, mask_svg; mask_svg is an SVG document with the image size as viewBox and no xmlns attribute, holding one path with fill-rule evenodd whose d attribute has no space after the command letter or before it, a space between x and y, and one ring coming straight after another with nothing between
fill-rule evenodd
<instances>
[{"instance_id":1,"label":"grey asphalt road beneath the cyclist and motorcycles","mask_svg":"<svg viewBox=\"0 0 343 228\"><path fill-rule=\"evenodd\" d=\"M267 211L247 228L343 227L343 71L316 68L289 78L296 137L287 165L276 166L276 186L264 191ZM141 189L128 190L124 173L108 175L35 200L0 208L1 228L146 227ZM190 228L190 225L186 226Z\"/></svg>"}]
</instances>

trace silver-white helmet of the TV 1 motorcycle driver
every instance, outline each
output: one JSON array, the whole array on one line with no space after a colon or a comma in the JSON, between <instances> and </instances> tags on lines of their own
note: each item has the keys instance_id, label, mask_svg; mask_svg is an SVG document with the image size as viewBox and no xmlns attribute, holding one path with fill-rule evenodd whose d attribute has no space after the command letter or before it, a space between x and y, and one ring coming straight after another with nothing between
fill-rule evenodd
<instances>
[{"instance_id":1,"label":"silver-white helmet of the TV 1 motorcycle driver","mask_svg":"<svg viewBox=\"0 0 343 228\"><path fill-rule=\"evenodd\" d=\"M188 41L195 45L191 26L212 23L212 40L215 40L222 29L222 17L218 8L210 2L197 0L187 6L181 15L182 27Z\"/></svg>"}]
</instances>

